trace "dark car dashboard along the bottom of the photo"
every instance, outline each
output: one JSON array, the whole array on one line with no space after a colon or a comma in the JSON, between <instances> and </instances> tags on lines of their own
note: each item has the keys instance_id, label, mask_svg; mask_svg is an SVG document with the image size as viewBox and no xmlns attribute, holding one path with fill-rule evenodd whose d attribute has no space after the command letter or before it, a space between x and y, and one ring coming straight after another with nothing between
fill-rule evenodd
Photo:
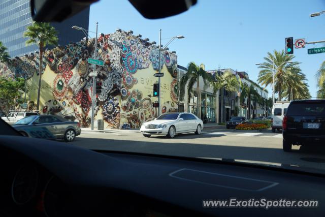
<instances>
[{"instance_id":1,"label":"dark car dashboard along the bottom of the photo","mask_svg":"<svg viewBox=\"0 0 325 217\"><path fill-rule=\"evenodd\" d=\"M322 215L324 177L0 136L0 216ZM317 208L205 208L211 199L317 199Z\"/></svg>"}]
</instances>

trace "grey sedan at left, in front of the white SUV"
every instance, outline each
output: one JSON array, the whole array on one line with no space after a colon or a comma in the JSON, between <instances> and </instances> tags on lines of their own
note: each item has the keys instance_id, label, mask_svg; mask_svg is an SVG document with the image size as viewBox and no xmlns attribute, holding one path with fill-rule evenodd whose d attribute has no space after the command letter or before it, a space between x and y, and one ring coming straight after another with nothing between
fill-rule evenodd
<instances>
[{"instance_id":1,"label":"grey sedan at left, in front of the white SUV","mask_svg":"<svg viewBox=\"0 0 325 217\"><path fill-rule=\"evenodd\" d=\"M32 115L18 120L13 127L23 136L73 141L80 135L80 123L57 115Z\"/></svg>"}]
</instances>

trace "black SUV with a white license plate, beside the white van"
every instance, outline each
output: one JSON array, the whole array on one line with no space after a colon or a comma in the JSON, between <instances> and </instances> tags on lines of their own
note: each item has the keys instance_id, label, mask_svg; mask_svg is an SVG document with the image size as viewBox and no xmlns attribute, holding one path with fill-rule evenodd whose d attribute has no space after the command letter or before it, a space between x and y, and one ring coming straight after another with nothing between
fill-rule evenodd
<instances>
[{"instance_id":1,"label":"black SUV with a white license plate, beside the white van","mask_svg":"<svg viewBox=\"0 0 325 217\"><path fill-rule=\"evenodd\" d=\"M291 145L325 144L325 100L291 102L282 128L284 151L291 151Z\"/></svg>"}]
</instances>

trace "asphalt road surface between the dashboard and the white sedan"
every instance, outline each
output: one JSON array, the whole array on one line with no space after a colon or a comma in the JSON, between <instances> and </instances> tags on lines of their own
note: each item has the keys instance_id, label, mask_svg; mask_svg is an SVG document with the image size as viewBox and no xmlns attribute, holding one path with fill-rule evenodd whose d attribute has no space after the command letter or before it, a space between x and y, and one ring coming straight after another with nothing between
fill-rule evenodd
<instances>
[{"instance_id":1,"label":"asphalt road surface between the dashboard and the white sedan","mask_svg":"<svg viewBox=\"0 0 325 217\"><path fill-rule=\"evenodd\" d=\"M308 171L322 169L325 173L325 148L293 146L293 152L284 152L281 132L207 129L201 135L180 134L173 139L146 138L137 131L84 132L70 144L98 150L294 165Z\"/></svg>"}]
</instances>

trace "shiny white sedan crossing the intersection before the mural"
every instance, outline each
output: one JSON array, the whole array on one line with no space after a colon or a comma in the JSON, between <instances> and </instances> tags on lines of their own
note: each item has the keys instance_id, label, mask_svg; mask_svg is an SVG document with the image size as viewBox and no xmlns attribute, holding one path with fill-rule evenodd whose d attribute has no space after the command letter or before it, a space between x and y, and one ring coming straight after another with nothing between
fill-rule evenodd
<instances>
[{"instance_id":1,"label":"shiny white sedan crossing the intersection before the mural","mask_svg":"<svg viewBox=\"0 0 325 217\"><path fill-rule=\"evenodd\" d=\"M167 135L173 138L180 133L201 134L202 130L203 121L196 115L187 112L174 112L162 114L152 121L143 123L140 132L144 137Z\"/></svg>"}]
</instances>

